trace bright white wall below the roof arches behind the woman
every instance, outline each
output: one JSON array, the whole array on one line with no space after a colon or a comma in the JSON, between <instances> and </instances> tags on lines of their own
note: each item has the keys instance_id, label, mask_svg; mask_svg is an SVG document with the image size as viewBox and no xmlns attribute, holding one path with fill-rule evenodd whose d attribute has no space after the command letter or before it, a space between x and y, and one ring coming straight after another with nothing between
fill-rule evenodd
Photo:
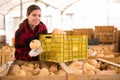
<instances>
[{"instance_id":1,"label":"bright white wall below the roof arches behind the woman","mask_svg":"<svg viewBox=\"0 0 120 80\"><path fill-rule=\"evenodd\" d=\"M23 4L23 19L26 18L26 8L33 4L29 2ZM67 8L61 15L61 11L46 6L40 2L36 3L42 9L42 21L47 25L49 32L54 28L72 30L73 28L93 28L95 25L114 25L120 28L120 3L112 0L80 0ZM15 22L15 17L20 17L20 7L14 8L6 15L6 35L7 43L12 44L12 37L18 28L19 21ZM22 20L20 20L21 22Z\"/></svg>"}]
</instances>

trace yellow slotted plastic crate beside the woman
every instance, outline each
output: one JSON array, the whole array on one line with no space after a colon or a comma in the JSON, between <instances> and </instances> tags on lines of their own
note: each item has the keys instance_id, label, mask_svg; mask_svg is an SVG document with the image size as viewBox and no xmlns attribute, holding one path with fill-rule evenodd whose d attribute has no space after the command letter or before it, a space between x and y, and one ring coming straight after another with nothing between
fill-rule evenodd
<instances>
[{"instance_id":1,"label":"yellow slotted plastic crate beside the woman","mask_svg":"<svg viewBox=\"0 0 120 80\"><path fill-rule=\"evenodd\" d=\"M39 59L52 62L66 62L88 58L88 36L65 34L41 35L43 53Z\"/></svg>"}]
</instances>

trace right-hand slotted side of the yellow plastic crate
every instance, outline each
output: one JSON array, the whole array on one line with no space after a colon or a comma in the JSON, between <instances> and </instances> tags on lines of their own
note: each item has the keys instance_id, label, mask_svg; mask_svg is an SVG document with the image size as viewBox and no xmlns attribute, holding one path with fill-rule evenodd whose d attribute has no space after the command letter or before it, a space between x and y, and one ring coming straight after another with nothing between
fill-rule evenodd
<instances>
[{"instance_id":1,"label":"right-hand slotted side of the yellow plastic crate","mask_svg":"<svg viewBox=\"0 0 120 80\"><path fill-rule=\"evenodd\" d=\"M70 39L70 50L72 53L72 60L87 59L88 37L85 35L70 36L68 39Z\"/></svg>"}]
</instances>

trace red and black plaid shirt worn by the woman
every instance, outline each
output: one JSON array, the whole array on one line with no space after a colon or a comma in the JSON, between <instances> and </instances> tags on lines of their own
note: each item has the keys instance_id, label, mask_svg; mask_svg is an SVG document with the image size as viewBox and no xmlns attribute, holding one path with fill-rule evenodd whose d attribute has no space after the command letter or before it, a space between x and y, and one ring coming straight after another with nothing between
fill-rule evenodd
<instances>
[{"instance_id":1,"label":"red and black plaid shirt worn by the woman","mask_svg":"<svg viewBox=\"0 0 120 80\"><path fill-rule=\"evenodd\" d=\"M17 60L24 61L38 60L38 56L37 57L29 56L29 51L31 50L29 47L29 43L33 39L39 39L40 34L47 34L47 28L42 22L40 22L33 31L28 24L28 20L25 19L23 21L19 29L15 32L14 46L15 46L15 58Z\"/></svg>"}]
</instances>

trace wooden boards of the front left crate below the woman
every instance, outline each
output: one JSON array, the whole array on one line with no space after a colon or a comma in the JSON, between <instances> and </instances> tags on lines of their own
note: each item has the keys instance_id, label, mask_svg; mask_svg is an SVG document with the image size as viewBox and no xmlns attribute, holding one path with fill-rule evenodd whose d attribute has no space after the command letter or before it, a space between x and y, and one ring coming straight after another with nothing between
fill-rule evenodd
<instances>
[{"instance_id":1,"label":"wooden boards of the front left crate below the woman","mask_svg":"<svg viewBox=\"0 0 120 80\"><path fill-rule=\"evenodd\" d=\"M10 76L9 73L11 72L11 67L15 64L18 65L22 65L24 64L26 61L19 61L19 60L15 60L12 65L10 66L8 72L6 73L6 75L0 76L0 80L69 80L67 79L66 75L35 75L35 76ZM54 62L46 62L46 61L31 61L28 63L39 63L40 65L44 65L44 63L46 63L47 65L52 65ZM58 63L54 63L56 65L59 65Z\"/></svg>"}]
</instances>

